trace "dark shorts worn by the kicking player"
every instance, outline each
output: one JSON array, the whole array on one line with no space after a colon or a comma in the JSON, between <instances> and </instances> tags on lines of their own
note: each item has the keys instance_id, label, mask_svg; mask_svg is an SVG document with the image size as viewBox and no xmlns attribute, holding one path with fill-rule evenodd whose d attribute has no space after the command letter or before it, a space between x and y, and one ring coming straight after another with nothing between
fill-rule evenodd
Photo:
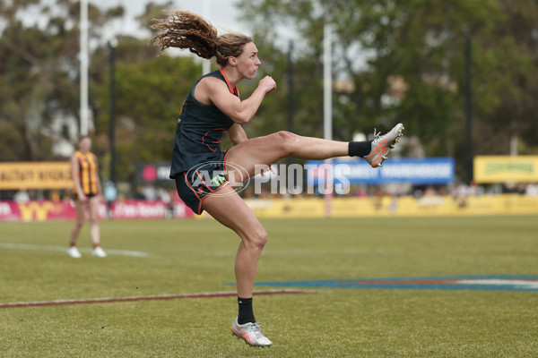
<instances>
[{"instance_id":1,"label":"dark shorts worn by the kicking player","mask_svg":"<svg viewBox=\"0 0 538 358\"><path fill-rule=\"evenodd\" d=\"M187 172L176 175L176 189L183 202L195 214L202 214L202 202L213 192L229 184L224 167L228 151L222 153L221 160L201 163Z\"/></svg>"}]
</instances>

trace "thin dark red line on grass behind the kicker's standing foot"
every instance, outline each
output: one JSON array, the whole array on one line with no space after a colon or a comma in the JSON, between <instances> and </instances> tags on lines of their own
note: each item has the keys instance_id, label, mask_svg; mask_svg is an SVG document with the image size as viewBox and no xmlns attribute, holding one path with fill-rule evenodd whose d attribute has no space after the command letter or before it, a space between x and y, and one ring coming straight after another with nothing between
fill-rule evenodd
<instances>
[{"instance_id":1,"label":"thin dark red line on grass behind the kicker's standing foot","mask_svg":"<svg viewBox=\"0 0 538 358\"><path fill-rule=\"evenodd\" d=\"M322 291L312 290L269 290L257 291L253 294L320 294ZM212 297L230 297L237 296L236 292L215 292L204 294L165 294L159 296L135 296L135 297L117 297L117 298L91 298L85 300L56 300L56 301L39 301L27 303L0 303L2 308L16 307L40 307L40 306L62 306L67 304L90 304L90 303L120 303L135 301L157 301L157 300L177 300L182 298L212 298Z\"/></svg>"}]
</instances>

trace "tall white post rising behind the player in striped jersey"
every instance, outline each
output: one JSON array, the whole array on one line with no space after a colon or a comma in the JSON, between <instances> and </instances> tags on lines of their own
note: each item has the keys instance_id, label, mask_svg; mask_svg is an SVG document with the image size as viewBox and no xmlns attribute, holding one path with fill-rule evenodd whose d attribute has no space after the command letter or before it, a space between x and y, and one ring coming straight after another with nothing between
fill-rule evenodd
<instances>
[{"instance_id":1,"label":"tall white post rising behind the player in striped jersey","mask_svg":"<svg viewBox=\"0 0 538 358\"><path fill-rule=\"evenodd\" d=\"M88 0L81 0L81 135L88 134Z\"/></svg>"}]
</instances>

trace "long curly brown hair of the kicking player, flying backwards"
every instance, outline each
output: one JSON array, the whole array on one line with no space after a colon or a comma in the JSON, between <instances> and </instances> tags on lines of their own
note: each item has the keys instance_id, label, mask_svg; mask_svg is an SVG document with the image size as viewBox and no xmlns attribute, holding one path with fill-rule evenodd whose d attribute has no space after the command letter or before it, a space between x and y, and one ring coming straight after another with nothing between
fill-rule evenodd
<instances>
[{"instance_id":1,"label":"long curly brown hair of the kicking player, flying backwards","mask_svg":"<svg viewBox=\"0 0 538 358\"><path fill-rule=\"evenodd\" d=\"M189 49L202 58L217 58L221 67L228 64L228 57L238 57L252 38L238 32L218 34L217 29L203 17L186 11L173 11L165 19L151 25L153 30L163 30L152 37L150 42L161 47L159 55L169 47Z\"/></svg>"}]
</instances>

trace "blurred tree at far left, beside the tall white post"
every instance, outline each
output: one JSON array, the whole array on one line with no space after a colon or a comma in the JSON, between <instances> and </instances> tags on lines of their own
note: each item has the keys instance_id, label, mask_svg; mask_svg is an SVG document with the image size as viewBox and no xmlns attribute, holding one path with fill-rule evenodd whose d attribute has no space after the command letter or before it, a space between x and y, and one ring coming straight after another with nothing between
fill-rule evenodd
<instances>
[{"instance_id":1,"label":"blurred tree at far left, beside the tall white post","mask_svg":"<svg viewBox=\"0 0 538 358\"><path fill-rule=\"evenodd\" d=\"M79 116L80 4L71 0L52 6L47 3L0 4L4 24L0 34L0 123L15 129L22 138L19 160L51 158L48 124L59 113ZM32 19L31 13L39 13L39 18ZM101 12L90 6L91 38L100 38L110 14L121 13L117 9ZM0 139L0 143L7 142Z\"/></svg>"}]
</instances>

